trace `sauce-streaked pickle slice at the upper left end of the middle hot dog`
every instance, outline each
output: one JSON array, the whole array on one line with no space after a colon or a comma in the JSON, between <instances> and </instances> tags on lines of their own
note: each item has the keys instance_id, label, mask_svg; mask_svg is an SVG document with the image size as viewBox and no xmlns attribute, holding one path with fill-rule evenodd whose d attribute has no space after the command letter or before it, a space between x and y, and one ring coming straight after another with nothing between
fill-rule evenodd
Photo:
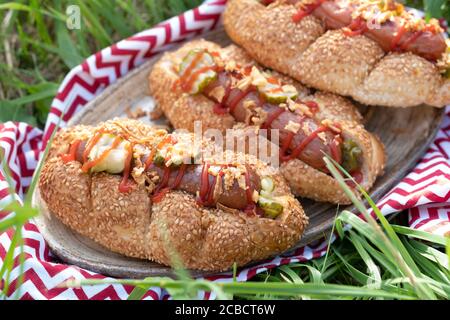
<instances>
[{"instance_id":1,"label":"sauce-streaked pickle slice at the upper left end of the middle hot dog","mask_svg":"<svg viewBox=\"0 0 450 320\"><path fill-rule=\"evenodd\" d=\"M200 59L198 58L199 55ZM202 92L208 84L217 78L217 72L213 69L215 66L213 56L206 50L194 49L189 51L180 64L179 75L183 77L188 70L190 75L181 85L184 85L186 92L190 94ZM201 72L202 70L204 71ZM195 77L195 81L192 77Z\"/></svg>"}]
</instances>

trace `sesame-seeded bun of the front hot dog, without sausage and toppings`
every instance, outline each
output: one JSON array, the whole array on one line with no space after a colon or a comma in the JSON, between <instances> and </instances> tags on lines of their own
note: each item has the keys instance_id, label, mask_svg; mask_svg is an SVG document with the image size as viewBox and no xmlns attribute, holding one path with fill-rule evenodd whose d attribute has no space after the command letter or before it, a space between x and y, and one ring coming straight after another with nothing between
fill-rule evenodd
<instances>
[{"instance_id":1,"label":"sesame-seeded bun of the front hot dog, without sausage and toppings","mask_svg":"<svg viewBox=\"0 0 450 320\"><path fill-rule=\"evenodd\" d=\"M261 260L292 247L301 237L307 217L274 169L249 156L247 164L260 177L270 177L273 191L283 197L284 209L276 218L249 215L223 206L206 207L196 196L170 190L159 202L148 187L130 178L131 191L121 192L120 174L85 173L77 161L64 162L61 154L76 139L92 137L95 130L119 122L146 138L155 131L132 120L115 120L97 127L76 126L56 135L39 180L40 194L52 214L76 232L126 256L171 266L222 271ZM115 128L115 129L114 129ZM187 134L190 135L190 134ZM233 161L234 161L233 160ZM245 192L245 191L242 191Z\"/></svg>"}]
</instances>

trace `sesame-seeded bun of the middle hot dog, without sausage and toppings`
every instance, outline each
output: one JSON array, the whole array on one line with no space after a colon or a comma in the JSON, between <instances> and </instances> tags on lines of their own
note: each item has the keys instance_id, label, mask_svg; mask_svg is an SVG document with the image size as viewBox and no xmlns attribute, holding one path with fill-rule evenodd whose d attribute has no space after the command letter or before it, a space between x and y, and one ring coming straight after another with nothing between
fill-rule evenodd
<instances>
[{"instance_id":1,"label":"sesame-seeded bun of the middle hot dog, without sausage and toppings","mask_svg":"<svg viewBox=\"0 0 450 320\"><path fill-rule=\"evenodd\" d=\"M205 41L195 40L187 43L174 52L165 53L158 61L150 75L149 86L151 94L156 98L158 107L164 112L170 123L176 129L194 130L194 121L201 121L202 130L209 128L244 129L243 137L257 134L258 127L246 126L243 122L237 122L229 113L218 115L214 112L215 102L203 94L184 93L177 81L176 66L186 54L193 49L207 49L218 52L224 62L234 61L240 65L255 65L244 50L235 45L221 48L218 45ZM377 137L367 132L362 126L362 116L357 108L346 98L331 93L311 92L299 82L289 77L281 76L273 72L283 83L297 88L299 96L318 104L319 110L314 118L321 122L332 121L341 125L344 137L350 137L362 150L362 176L361 185L369 190L376 178L382 174L386 162L384 146ZM242 138L244 139L244 138ZM260 139L258 143L270 142ZM277 146L278 148L278 146ZM247 147L248 149L248 147ZM268 148L270 150L270 148ZM288 181L292 192L297 196L311 198L317 201L349 204L350 200L339 187L337 181L324 172L321 172L300 159L282 162L280 172Z\"/></svg>"}]
</instances>

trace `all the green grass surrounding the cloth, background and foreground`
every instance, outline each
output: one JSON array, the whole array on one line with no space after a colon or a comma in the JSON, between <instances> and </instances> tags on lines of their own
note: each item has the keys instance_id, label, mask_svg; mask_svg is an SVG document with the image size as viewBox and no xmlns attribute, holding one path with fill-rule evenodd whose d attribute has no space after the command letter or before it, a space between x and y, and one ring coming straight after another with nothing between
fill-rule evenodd
<instances>
[{"instance_id":1,"label":"all the green grass surrounding the cloth, background and foreground","mask_svg":"<svg viewBox=\"0 0 450 320\"><path fill-rule=\"evenodd\" d=\"M18 120L43 126L51 100L70 68L101 48L200 2L117 1L114 6L107 0L2 2L0 122ZM69 4L81 7L81 31L70 31L65 27L65 8ZM425 5L428 16L450 20L445 0L408 1L408 4L417 8ZM333 169L332 163L329 166ZM333 172L342 180L336 168ZM30 191L35 182L36 179ZM360 201L354 199L354 202L361 212L365 212ZM5 297L8 288L12 252L22 244L20 227L38 212L32 208L29 197L23 204L14 201L0 209L16 213L0 221L0 232L15 229L10 253L0 266L0 278L6 280L1 298ZM176 280L150 278L114 282L136 286L131 296L135 299L150 286L162 286L175 298L193 298L198 290L205 289L214 291L219 298L235 299L448 299L449 239L406 227L404 216L405 213L387 221L378 213L380 223L376 223L371 219L364 222L344 211L335 224L339 239L329 246L326 256L279 267L246 283L194 281L182 268L178 269ZM344 233L344 224L351 225L352 229Z\"/></svg>"}]
</instances>

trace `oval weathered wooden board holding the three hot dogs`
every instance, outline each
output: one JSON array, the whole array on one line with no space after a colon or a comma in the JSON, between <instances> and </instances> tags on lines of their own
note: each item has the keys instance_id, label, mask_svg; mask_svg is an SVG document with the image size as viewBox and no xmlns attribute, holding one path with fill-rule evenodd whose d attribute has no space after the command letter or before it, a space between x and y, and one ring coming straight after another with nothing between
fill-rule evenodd
<instances>
[{"instance_id":1,"label":"oval weathered wooden board holding the three hot dogs","mask_svg":"<svg viewBox=\"0 0 450 320\"><path fill-rule=\"evenodd\" d=\"M221 45L231 43L223 30L210 32L203 37ZM147 76L159 57L160 55L153 57L109 86L75 115L69 125L95 125L113 117L126 116L127 110L136 108L151 110L154 101L148 93ZM444 109L427 106L405 109L361 106L361 111L364 114L366 128L381 138L388 157L385 174L376 181L370 192L371 197L378 200L421 158L439 129ZM141 120L156 125L167 125L164 119L151 122L148 117L143 117ZM328 236L337 210L335 205L329 203L308 199L300 201L309 216L310 223L303 238L293 249ZM144 278L173 275L169 267L113 253L78 235L47 210L39 197L39 189L34 194L34 203L41 207L42 212L36 218L39 230L53 253L67 263L114 277ZM346 209L354 210L351 206ZM193 271L192 275L205 276L208 273Z\"/></svg>"}]
</instances>

